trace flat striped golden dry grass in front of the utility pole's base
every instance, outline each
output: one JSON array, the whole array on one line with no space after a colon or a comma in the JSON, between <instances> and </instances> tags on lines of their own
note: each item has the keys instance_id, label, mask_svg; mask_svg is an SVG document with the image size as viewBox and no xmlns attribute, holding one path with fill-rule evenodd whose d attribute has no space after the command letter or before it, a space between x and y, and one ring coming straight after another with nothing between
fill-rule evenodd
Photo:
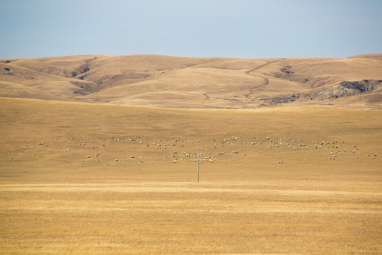
<instances>
[{"instance_id":1,"label":"flat striped golden dry grass in front of the utility pole's base","mask_svg":"<svg viewBox=\"0 0 382 255\"><path fill-rule=\"evenodd\" d=\"M287 183L297 190L274 190L277 184L286 183L2 186L8 202L1 210L1 249L6 254L381 251L378 187L323 192L331 185L347 190L351 183L313 181Z\"/></svg>"}]
</instances>

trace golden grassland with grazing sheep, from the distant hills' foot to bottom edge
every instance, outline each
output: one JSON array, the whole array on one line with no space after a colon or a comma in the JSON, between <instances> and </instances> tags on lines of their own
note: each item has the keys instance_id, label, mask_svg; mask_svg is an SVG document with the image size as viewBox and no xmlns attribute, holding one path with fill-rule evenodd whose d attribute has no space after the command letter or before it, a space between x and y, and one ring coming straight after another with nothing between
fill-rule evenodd
<instances>
[{"instance_id":1,"label":"golden grassland with grazing sheep, from the distant hills' foot to bottom edge","mask_svg":"<svg viewBox=\"0 0 382 255\"><path fill-rule=\"evenodd\" d=\"M0 106L0 254L382 252L381 111Z\"/></svg>"}]
</instances>

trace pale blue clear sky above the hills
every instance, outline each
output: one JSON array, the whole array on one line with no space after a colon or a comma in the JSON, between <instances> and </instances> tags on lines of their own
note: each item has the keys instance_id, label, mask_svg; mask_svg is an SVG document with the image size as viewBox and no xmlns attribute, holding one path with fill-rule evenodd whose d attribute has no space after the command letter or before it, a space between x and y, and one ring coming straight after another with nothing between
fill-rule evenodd
<instances>
[{"instance_id":1,"label":"pale blue clear sky above the hills","mask_svg":"<svg viewBox=\"0 0 382 255\"><path fill-rule=\"evenodd\" d=\"M382 53L382 0L0 0L0 59Z\"/></svg>"}]
</instances>

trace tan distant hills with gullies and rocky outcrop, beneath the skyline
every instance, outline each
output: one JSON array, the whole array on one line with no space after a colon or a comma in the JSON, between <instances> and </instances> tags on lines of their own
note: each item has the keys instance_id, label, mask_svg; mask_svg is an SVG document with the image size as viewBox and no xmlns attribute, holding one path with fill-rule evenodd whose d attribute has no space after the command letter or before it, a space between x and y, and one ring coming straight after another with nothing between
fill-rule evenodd
<instances>
[{"instance_id":1,"label":"tan distant hills with gullies and rocky outcrop, beneath the skyline","mask_svg":"<svg viewBox=\"0 0 382 255\"><path fill-rule=\"evenodd\" d=\"M382 54L346 59L84 55L0 60L0 96L165 108L382 108Z\"/></svg>"}]
</instances>

